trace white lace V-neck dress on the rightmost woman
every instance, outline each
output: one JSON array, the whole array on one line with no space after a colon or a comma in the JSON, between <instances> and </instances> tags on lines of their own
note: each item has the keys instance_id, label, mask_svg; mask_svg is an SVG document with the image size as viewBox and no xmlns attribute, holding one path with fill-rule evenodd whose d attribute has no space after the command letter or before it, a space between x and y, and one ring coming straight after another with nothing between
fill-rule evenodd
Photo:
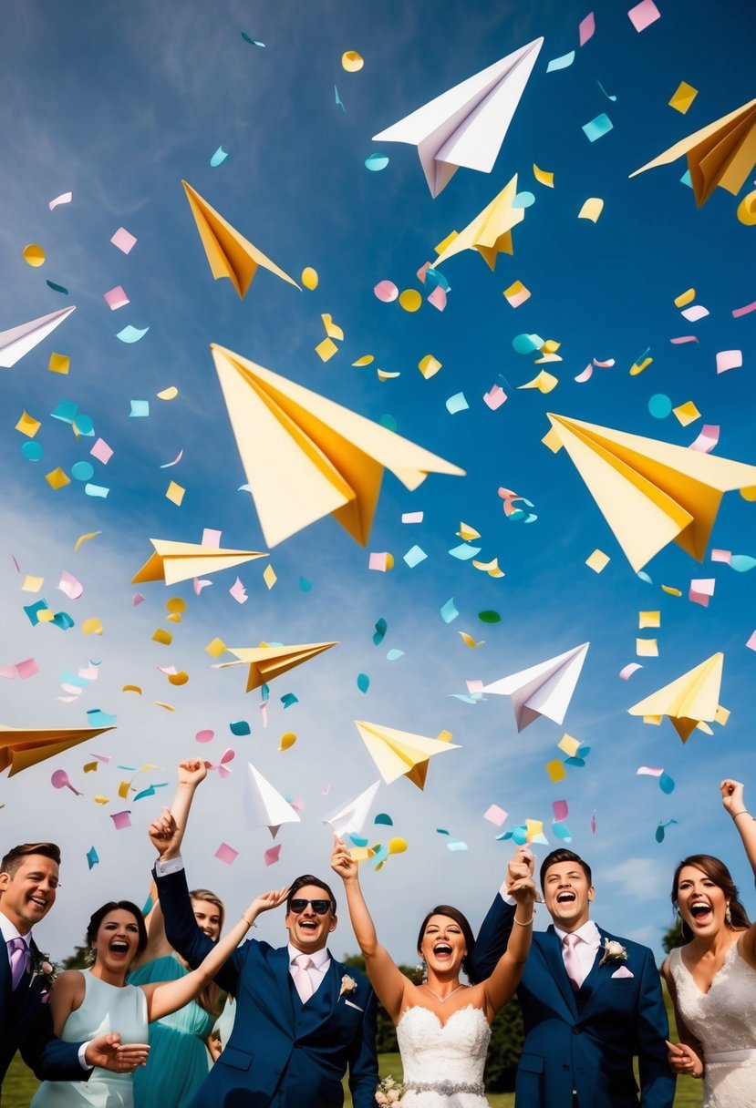
<instances>
[{"instance_id":1,"label":"white lace V-neck dress on the rightmost woman","mask_svg":"<svg viewBox=\"0 0 756 1108\"><path fill-rule=\"evenodd\" d=\"M696 985L680 948L670 954L670 970L680 1014L704 1048L703 1108L756 1108L756 970L736 943L708 993Z\"/></svg>"}]
</instances>

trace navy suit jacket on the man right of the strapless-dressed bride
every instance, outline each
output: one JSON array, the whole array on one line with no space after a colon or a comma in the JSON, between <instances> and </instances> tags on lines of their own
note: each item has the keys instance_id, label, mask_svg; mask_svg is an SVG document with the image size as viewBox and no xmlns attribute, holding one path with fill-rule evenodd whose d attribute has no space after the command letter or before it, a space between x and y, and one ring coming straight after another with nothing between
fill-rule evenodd
<instances>
[{"instance_id":1,"label":"navy suit jacket on the man right of the strapless-dressed bride","mask_svg":"<svg viewBox=\"0 0 756 1108\"><path fill-rule=\"evenodd\" d=\"M486 977L503 952L514 910L500 895L483 921L473 952ZM604 938L615 938L599 929ZM525 1043L517 1078L517 1108L631 1108L638 1105L633 1055L638 1056L643 1108L671 1108L675 1079L664 1039L670 1029L652 952L626 938L626 962L593 968L575 993L553 926L534 932L518 988ZM632 974L627 976L624 971ZM617 971L621 975L617 976Z\"/></svg>"}]
</instances>

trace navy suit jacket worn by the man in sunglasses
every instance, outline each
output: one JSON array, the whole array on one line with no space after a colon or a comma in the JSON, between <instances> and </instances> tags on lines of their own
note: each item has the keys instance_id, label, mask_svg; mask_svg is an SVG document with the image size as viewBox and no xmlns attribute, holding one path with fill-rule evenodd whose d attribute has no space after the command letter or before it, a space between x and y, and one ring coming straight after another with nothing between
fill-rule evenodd
<instances>
[{"instance_id":1,"label":"navy suit jacket worn by the man in sunglasses","mask_svg":"<svg viewBox=\"0 0 756 1108\"><path fill-rule=\"evenodd\" d=\"M196 925L184 871L156 881L168 942L197 966L213 944ZM339 996L346 974L357 987ZM376 997L366 977L331 958L303 1005L288 947L248 940L216 979L236 997L236 1018L192 1108L341 1108L347 1068L355 1108L375 1108Z\"/></svg>"}]
</instances>

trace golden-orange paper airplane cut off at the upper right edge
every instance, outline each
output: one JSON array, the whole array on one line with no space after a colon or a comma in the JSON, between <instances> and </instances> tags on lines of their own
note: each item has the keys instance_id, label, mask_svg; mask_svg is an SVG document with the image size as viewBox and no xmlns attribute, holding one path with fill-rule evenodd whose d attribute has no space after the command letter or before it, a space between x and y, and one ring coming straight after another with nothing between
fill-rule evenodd
<instances>
[{"instance_id":1,"label":"golden-orange paper airplane cut off at the upper right edge","mask_svg":"<svg viewBox=\"0 0 756 1108\"><path fill-rule=\"evenodd\" d=\"M698 207L706 203L717 185L737 196L756 164L756 100L749 100L729 115L682 138L653 162L631 173L631 177L655 170L657 165L668 165L683 154L687 155Z\"/></svg>"}]
</instances>

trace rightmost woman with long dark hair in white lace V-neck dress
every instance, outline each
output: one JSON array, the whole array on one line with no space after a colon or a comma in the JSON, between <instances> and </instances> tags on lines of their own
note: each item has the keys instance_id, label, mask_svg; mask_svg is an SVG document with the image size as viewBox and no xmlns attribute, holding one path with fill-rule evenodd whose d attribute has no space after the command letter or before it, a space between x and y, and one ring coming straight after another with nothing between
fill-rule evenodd
<instances>
[{"instance_id":1,"label":"rightmost woman with long dark hair in white lace V-neck dress","mask_svg":"<svg viewBox=\"0 0 756 1108\"><path fill-rule=\"evenodd\" d=\"M756 820L744 788L727 779L722 802L756 873ZM677 1074L704 1078L704 1108L756 1106L756 924L729 870L711 854L683 859L672 882L684 946L662 967L675 1005L680 1044L668 1043Z\"/></svg>"}]
</instances>

